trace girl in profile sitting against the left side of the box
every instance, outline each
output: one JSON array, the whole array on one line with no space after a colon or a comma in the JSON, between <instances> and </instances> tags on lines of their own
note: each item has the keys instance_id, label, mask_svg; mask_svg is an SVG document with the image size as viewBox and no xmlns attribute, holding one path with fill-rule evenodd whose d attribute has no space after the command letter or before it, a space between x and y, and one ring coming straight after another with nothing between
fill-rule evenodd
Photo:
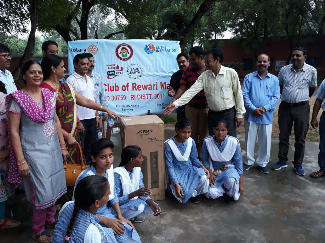
<instances>
[{"instance_id":1,"label":"girl in profile sitting against the left side of the box","mask_svg":"<svg viewBox=\"0 0 325 243\"><path fill-rule=\"evenodd\" d=\"M150 198L151 191L142 182L141 148L126 146L122 150L121 161L120 166L114 168L114 183L123 217L140 223L145 220L145 215L158 216L161 208Z\"/></svg>"}]
</instances>

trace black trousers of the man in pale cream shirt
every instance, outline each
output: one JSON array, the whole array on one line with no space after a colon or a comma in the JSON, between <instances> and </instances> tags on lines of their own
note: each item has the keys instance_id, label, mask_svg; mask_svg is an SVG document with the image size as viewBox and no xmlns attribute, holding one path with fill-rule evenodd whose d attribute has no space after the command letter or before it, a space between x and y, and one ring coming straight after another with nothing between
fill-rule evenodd
<instances>
[{"instance_id":1,"label":"black trousers of the man in pale cream shirt","mask_svg":"<svg viewBox=\"0 0 325 243\"><path fill-rule=\"evenodd\" d=\"M227 121L228 125L228 135L237 137L237 127L235 125L235 117L236 117L236 109L232 107L228 110L221 110L221 111L208 111L208 125L209 125L209 134L214 135L213 126L215 122L219 119L224 119Z\"/></svg>"}]
</instances>

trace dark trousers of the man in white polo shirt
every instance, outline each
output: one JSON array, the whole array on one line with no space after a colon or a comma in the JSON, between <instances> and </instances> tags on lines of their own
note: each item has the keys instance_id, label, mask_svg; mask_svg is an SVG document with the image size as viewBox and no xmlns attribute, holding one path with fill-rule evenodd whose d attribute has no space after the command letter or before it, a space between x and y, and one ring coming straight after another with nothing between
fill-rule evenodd
<instances>
[{"instance_id":1,"label":"dark trousers of the man in white polo shirt","mask_svg":"<svg viewBox=\"0 0 325 243\"><path fill-rule=\"evenodd\" d=\"M84 125L85 132L80 134L81 147L87 164L91 162L90 148L96 142L96 118L80 120Z\"/></svg>"}]
</instances>

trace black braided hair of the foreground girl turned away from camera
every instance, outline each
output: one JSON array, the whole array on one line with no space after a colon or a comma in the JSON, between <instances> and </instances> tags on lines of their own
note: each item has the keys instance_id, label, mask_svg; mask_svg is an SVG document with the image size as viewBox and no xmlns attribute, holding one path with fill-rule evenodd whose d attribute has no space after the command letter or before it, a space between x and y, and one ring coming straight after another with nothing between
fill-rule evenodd
<instances>
[{"instance_id":1,"label":"black braided hair of the foreground girl turned away from camera","mask_svg":"<svg viewBox=\"0 0 325 243\"><path fill-rule=\"evenodd\" d=\"M74 209L67 227L64 243L69 242L80 209L88 209L96 200L105 196L108 186L107 178L100 175L87 176L79 181L74 190Z\"/></svg>"}]
</instances>

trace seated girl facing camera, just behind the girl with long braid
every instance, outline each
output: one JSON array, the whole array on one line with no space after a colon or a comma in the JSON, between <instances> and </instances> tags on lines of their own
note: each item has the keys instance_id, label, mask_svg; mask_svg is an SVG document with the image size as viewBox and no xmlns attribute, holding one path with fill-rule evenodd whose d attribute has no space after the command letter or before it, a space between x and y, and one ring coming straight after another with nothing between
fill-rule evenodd
<instances>
[{"instance_id":1,"label":"seated girl facing camera, just behind the girl with long braid","mask_svg":"<svg viewBox=\"0 0 325 243\"><path fill-rule=\"evenodd\" d=\"M123 217L118 197L114 190L113 148L113 142L105 138L101 138L93 143L91 145L91 166L79 175L76 185L78 185L81 179L90 175L106 177L110 182L111 194L109 202L97 211L96 216L101 219L99 223L113 229L117 242L141 242L131 221ZM111 213L111 211L115 212L115 214Z\"/></svg>"}]
</instances>

